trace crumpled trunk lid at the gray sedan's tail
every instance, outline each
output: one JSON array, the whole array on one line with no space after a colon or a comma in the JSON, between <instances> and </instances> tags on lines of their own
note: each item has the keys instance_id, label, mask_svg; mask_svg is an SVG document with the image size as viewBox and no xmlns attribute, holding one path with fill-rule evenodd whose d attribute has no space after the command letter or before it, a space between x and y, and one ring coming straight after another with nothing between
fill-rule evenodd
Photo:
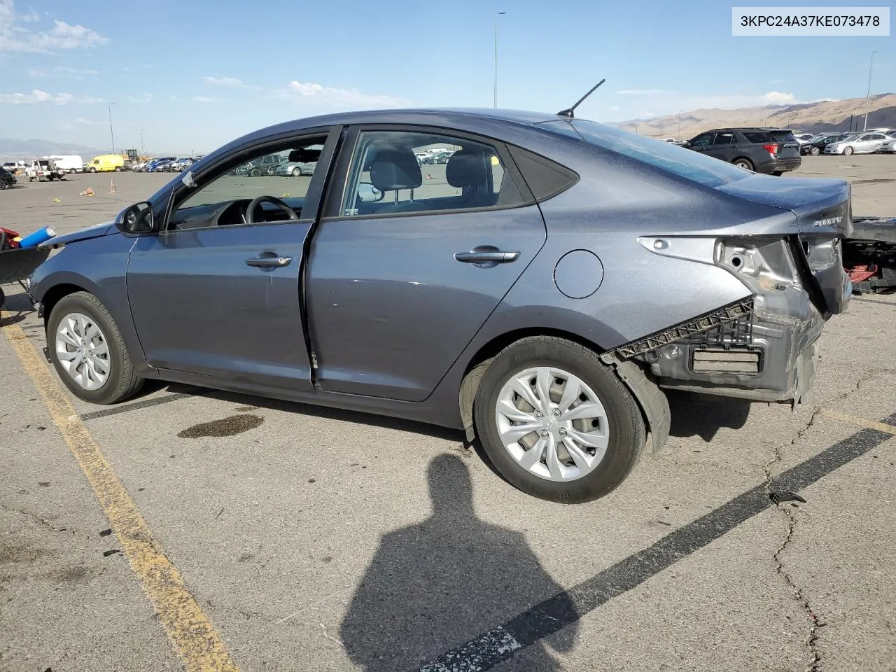
<instances>
[{"instance_id":1,"label":"crumpled trunk lid at the gray sedan's tail","mask_svg":"<svg viewBox=\"0 0 896 672\"><path fill-rule=\"evenodd\" d=\"M851 285L843 271L841 240L852 237L851 187L840 179L754 176L717 187L726 194L770 205L797 217L794 259L806 289L826 316L842 313Z\"/></svg>"}]
</instances>

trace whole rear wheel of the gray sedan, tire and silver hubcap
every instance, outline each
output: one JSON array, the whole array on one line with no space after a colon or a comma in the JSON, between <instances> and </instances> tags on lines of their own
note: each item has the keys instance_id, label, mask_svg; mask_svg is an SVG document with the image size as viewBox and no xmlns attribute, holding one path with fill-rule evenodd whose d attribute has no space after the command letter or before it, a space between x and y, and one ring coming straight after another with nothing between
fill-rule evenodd
<instances>
[{"instance_id":1,"label":"whole rear wheel of the gray sedan, tire and silver hubcap","mask_svg":"<svg viewBox=\"0 0 896 672\"><path fill-rule=\"evenodd\" d=\"M473 411L495 469L553 502L609 494L645 441L641 410L616 374L590 349L556 337L530 337L499 353Z\"/></svg>"}]
</instances>

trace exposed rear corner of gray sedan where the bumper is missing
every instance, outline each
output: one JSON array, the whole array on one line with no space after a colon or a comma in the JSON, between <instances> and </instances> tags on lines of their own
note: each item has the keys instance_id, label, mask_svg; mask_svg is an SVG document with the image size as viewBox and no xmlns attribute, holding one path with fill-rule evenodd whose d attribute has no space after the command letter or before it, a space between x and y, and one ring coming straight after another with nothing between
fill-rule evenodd
<instances>
[{"instance_id":1,"label":"exposed rear corner of gray sedan where the bumper is missing","mask_svg":"<svg viewBox=\"0 0 896 672\"><path fill-rule=\"evenodd\" d=\"M660 387L754 401L801 401L813 385L824 319L791 287L723 306L623 348Z\"/></svg>"}]
</instances>

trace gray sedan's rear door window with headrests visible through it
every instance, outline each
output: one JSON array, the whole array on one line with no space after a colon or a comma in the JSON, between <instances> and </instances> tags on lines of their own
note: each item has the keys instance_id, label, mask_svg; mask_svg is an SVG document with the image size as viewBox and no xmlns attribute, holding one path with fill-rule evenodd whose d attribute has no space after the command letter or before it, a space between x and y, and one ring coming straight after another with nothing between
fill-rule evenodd
<instances>
[{"instance_id":1,"label":"gray sedan's rear door window with headrests visible through it","mask_svg":"<svg viewBox=\"0 0 896 672\"><path fill-rule=\"evenodd\" d=\"M358 136L341 216L511 208L523 197L497 149L443 134Z\"/></svg>"}]
</instances>

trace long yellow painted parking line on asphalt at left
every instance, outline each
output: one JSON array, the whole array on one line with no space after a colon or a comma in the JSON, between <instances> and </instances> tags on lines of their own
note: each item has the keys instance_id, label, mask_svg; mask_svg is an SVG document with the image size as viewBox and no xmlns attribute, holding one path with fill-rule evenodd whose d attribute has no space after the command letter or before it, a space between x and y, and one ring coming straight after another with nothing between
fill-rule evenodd
<instances>
[{"instance_id":1,"label":"long yellow painted parking line on asphalt at left","mask_svg":"<svg viewBox=\"0 0 896 672\"><path fill-rule=\"evenodd\" d=\"M224 641L196 599L187 590L177 567L152 536L125 486L99 450L62 387L17 325L3 328L25 372L40 392L53 422L68 444L99 504L112 523L131 569L165 626L187 672L238 672Z\"/></svg>"}]
</instances>

